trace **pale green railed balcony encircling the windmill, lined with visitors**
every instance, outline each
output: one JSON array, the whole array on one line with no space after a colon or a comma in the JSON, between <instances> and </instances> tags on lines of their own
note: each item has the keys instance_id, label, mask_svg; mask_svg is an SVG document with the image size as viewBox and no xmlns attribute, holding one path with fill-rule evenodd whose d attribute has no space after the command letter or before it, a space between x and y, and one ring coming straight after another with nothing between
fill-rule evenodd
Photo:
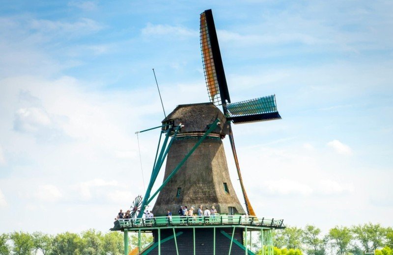
<instances>
[{"instance_id":1,"label":"pale green railed balcony encircling the windmill, lined with visitors","mask_svg":"<svg viewBox=\"0 0 393 255\"><path fill-rule=\"evenodd\" d=\"M195 227L195 226L251 226L269 229L284 229L282 219L257 218L245 215L216 215L216 216L173 216L136 219L119 219L113 229L151 229L165 227Z\"/></svg>"}]
</instances>

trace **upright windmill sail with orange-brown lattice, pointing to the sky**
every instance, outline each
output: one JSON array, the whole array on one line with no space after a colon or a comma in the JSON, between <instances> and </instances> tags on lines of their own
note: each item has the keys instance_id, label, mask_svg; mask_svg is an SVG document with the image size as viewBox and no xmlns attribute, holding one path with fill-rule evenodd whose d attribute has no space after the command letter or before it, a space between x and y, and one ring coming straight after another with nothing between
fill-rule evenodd
<instances>
[{"instance_id":1,"label":"upright windmill sail with orange-brown lattice, pointing to the sky","mask_svg":"<svg viewBox=\"0 0 393 255\"><path fill-rule=\"evenodd\" d=\"M215 105L230 102L212 10L200 14L200 49L210 102Z\"/></svg>"}]
</instances>

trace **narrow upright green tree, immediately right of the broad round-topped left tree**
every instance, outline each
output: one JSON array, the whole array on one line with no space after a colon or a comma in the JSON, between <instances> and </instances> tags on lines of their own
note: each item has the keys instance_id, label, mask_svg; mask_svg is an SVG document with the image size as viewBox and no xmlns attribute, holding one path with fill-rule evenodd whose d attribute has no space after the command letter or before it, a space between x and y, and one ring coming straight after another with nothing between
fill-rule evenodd
<instances>
[{"instance_id":1,"label":"narrow upright green tree, immediately right of the broad round-topped left tree","mask_svg":"<svg viewBox=\"0 0 393 255\"><path fill-rule=\"evenodd\" d=\"M82 232L83 255L105 255L104 253L104 237L100 231L89 229Z\"/></svg>"}]
</instances>

